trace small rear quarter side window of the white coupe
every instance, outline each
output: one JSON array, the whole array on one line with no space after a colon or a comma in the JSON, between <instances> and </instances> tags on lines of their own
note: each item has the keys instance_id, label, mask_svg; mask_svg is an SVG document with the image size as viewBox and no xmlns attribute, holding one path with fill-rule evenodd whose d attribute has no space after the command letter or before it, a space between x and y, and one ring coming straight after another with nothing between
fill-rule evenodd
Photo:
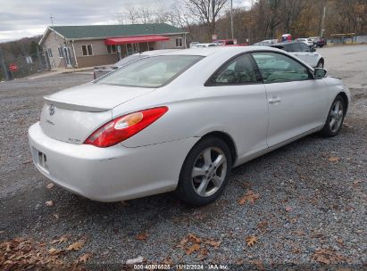
<instances>
[{"instance_id":1,"label":"small rear quarter side window of the white coupe","mask_svg":"<svg viewBox=\"0 0 367 271\"><path fill-rule=\"evenodd\" d=\"M211 79L213 85L257 83L256 68L249 54L242 54L217 71Z\"/></svg>"}]
</instances>

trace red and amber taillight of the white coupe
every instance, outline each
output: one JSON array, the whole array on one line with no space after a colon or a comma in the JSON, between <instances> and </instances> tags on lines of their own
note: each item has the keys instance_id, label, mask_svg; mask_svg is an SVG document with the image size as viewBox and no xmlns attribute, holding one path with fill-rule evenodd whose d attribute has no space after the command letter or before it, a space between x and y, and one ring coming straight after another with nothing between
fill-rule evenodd
<instances>
[{"instance_id":1,"label":"red and amber taillight of the white coupe","mask_svg":"<svg viewBox=\"0 0 367 271\"><path fill-rule=\"evenodd\" d=\"M168 107L156 107L113 119L98 128L84 144L101 148L119 144L161 118L166 111L168 111Z\"/></svg>"}]
</instances>

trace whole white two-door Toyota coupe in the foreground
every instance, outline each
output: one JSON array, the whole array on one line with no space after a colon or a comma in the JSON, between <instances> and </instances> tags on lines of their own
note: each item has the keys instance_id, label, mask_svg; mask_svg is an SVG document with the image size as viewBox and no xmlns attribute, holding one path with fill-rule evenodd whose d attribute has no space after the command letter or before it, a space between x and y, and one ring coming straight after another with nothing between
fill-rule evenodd
<instances>
[{"instance_id":1,"label":"whole white two-door Toyota coupe in the foreground","mask_svg":"<svg viewBox=\"0 0 367 271\"><path fill-rule=\"evenodd\" d=\"M349 98L341 79L277 48L177 50L45 96L29 145L44 176L91 200L175 191L204 205L231 168L315 132L337 136Z\"/></svg>"}]
</instances>

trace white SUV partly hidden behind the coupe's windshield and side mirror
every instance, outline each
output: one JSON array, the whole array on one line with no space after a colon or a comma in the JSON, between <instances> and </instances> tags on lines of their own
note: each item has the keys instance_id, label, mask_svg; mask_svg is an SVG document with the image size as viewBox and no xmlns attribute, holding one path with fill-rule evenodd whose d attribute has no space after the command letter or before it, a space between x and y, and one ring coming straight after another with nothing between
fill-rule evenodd
<instances>
[{"instance_id":1,"label":"white SUV partly hidden behind the coupe's windshield and side mirror","mask_svg":"<svg viewBox=\"0 0 367 271\"><path fill-rule=\"evenodd\" d=\"M271 46L287 51L288 53L302 60L303 62L306 62L313 68L323 68L325 65L325 60L323 59L321 54L316 53L315 48L310 48L304 42L288 42Z\"/></svg>"}]
</instances>

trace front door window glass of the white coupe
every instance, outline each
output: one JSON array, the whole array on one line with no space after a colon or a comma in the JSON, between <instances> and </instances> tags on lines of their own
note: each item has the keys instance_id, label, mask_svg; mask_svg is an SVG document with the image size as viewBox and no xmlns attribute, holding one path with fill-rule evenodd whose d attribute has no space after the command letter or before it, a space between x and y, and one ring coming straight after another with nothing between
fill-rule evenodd
<instances>
[{"instance_id":1,"label":"front door window glass of the white coupe","mask_svg":"<svg viewBox=\"0 0 367 271\"><path fill-rule=\"evenodd\" d=\"M304 65L281 53L253 53L264 83L307 80L309 71Z\"/></svg>"}]
</instances>

